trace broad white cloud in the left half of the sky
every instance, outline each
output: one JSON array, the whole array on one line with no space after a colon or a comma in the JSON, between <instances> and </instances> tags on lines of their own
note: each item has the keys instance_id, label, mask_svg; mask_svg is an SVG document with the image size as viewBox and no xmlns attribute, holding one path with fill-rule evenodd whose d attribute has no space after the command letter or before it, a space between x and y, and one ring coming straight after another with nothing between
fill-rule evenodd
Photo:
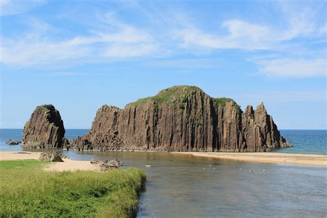
<instances>
[{"instance_id":1,"label":"broad white cloud in the left half of the sky","mask_svg":"<svg viewBox=\"0 0 327 218\"><path fill-rule=\"evenodd\" d=\"M32 26L40 23L40 28L18 40L1 40L1 63L11 66L65 66L75 62L139 57L151 54L159 47L147 32L118 21L115 23L115 32L90 30L89 36L80 35L61 41L48 39L46 36L49 32L43 34L50 29L49 25L35 19L31 21Z\"/></svg>"}]
</instances>

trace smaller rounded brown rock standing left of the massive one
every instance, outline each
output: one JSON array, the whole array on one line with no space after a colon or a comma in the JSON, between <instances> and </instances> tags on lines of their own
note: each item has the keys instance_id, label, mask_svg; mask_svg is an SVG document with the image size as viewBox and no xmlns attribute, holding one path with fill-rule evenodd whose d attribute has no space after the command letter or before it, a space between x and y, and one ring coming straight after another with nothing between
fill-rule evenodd
<instances>
[{"instance_id":1,"label":"smaller rounded brown rock standing left of the massive one","mask_svg":"<svg viewBox=\"0 0 327 218\"><path fill-rule=\"evenodd\" d=\"M58 110L52 105L37 106L23 130L22 146L26 148L63 148L68 140Z\"/></svg>"}]
</instances>

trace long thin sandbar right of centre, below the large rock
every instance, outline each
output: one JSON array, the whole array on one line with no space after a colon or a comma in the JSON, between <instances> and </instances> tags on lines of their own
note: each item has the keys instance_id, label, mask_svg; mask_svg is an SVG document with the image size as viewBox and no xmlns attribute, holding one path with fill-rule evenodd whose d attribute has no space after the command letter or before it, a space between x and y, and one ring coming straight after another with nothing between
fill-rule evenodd
<instances>
[{"instance_id":1,"label":"long thin sandbar right of centre, below the large rock","mask_svg":"<svg viewBox=\"0 0 327 218\"><path fill-rule=\"evenodd\" d=\"M301 155L275 152L173 152L180 155L211 157L235 161L250 161L271 164L297 164L327 167L327 155Z\"/></svg>"}]
</instances>

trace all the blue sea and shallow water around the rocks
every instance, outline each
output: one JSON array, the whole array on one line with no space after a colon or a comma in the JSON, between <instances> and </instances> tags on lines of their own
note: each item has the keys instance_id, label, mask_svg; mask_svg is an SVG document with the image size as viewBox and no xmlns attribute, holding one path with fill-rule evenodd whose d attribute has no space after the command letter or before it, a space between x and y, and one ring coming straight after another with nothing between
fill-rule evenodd
<instances>
[{"instance_id":1,"label":"all the blue sea and shallow water around the rocks","mask_svg":"<svg viewBox=\"0 0 327 218\"><path fill-rule=\"evenodd\" d=\"M0 151L21 151L21 129L0 129ZM67 129L76 139L87 129ZM327 155L327 130L280 130L292 148L275 152ZM327 168L259 164L166 152L61 151L71 159L119 159L142 168L146 190L137 217L327 217ZM147 168L146 165L150 165Z\"/></svg>"}]
</instances>

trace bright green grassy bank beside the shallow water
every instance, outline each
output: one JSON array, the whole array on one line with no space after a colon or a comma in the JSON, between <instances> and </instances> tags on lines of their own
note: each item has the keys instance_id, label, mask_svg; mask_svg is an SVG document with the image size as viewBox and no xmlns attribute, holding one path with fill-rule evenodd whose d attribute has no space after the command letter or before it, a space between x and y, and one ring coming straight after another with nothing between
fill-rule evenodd
<instances>
[{"instance_id":1,"label":"bright green grassy bank beside the shallow water","mask_svg":"<svg viewBox=\"0 0 327 218\"><path fill-rule=\"evenodd\" d=\"M0 161L0 217L135 216L143 171L45 172L45 164Z\"/></svg>"}]
</instances>

